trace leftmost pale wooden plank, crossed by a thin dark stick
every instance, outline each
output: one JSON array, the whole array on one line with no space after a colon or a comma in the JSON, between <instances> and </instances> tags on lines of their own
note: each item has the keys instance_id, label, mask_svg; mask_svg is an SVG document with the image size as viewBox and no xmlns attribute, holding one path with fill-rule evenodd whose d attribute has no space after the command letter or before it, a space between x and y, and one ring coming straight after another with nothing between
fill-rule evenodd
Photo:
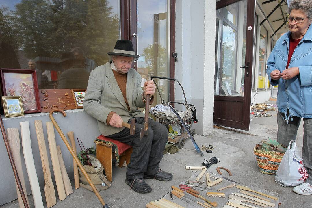
<instances>
[{"instance_id":1,"label":"leftmost pale wooden plank, crossed by a thin dark stick","mask_svg":"<svg viewBox=\"0 0 312 208\"><path fill-rule=\"evenodd\" d=\"M16 167L16 171L17 174L19 176L19 179L21 181L22 184L22 188L25 194L25 198L27 201L27 204L29 206L29 201L28 201L28 197L27 197L27 192L26 192L26 188L25 188L25 180L24 180L24 175L23 175L23 169L22 169L22 161L21 161L21 143L20 143L20 139L19 139L19 133L18 133L18 129L17 128L8 128L7 129L7 137L8 137L8 142L10 145L10 149L12 152L12 156L15 162L15 167ZM12 148L14 147L14 148ZM17 181L15 179L15 185L16 185L16 191L17 191L17 198L18 198L18 204L20 208L24 208L24 203L23 203L23 199L21 196L21 193L18 189L17 186Z\"/></svg>"}]
</instances>

